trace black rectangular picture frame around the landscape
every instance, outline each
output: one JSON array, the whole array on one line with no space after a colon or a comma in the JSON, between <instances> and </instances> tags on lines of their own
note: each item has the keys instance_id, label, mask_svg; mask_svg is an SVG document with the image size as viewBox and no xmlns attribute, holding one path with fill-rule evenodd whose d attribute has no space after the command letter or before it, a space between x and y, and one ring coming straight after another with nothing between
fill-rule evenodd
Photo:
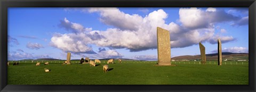
<instances>
[{"instance_id":1,"label":"black rectangular picture frame around the landscape","mask_svg":"<svg viewBox=\"0 0 256 92\"><path fill-rule=\"evenodd\" d=\"M255 91L255 0L0 0L1 91ZM249 7L249 85L7 85L8 7Z\"/></svg>"}]
</instances>

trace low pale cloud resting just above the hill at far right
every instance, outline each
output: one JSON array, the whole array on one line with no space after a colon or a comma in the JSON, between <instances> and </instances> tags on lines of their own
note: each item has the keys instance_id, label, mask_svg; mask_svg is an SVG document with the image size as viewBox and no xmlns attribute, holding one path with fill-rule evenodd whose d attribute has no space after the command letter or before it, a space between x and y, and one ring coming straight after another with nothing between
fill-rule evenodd
<instances>
[{"instance_id":1,"label":"low pale cloud resting just above the hill at far right","mask_svg":"<svg viewBox=\"0 0 256 92\"><path fill-rule=\"evenodd\" d=\"M213 50L213 53L217 53L217 50ZM249 50L244 47L231 47L231 48L224 48L222 52L232 52L232 53L249 53Z\"/></svg>"}]
</instances>

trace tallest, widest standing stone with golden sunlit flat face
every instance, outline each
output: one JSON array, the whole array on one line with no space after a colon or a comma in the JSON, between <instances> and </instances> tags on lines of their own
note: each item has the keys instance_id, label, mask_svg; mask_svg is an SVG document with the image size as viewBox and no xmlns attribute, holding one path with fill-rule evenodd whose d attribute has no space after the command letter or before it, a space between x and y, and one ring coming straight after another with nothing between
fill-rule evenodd
<instances>
[{"instance_id":1,"label":"tallest, widest standing stone with golden sunlit flat face","mask_svg":"<svg viewBox=\"0 0 256 92\"><path fill-rule=\"evenodd\" d=\"M157 27L157 56L158 65L171 65L170 32Z\"/></svg>"}]
</instances>

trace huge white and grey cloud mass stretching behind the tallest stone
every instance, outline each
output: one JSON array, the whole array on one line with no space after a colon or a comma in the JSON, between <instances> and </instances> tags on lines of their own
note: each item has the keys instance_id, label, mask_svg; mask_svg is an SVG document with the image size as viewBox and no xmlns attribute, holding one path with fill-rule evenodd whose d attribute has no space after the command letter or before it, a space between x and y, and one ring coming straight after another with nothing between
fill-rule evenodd
<instances>
[{"instance_id":1,"label":"huge white and grey cloud mass stretching behind the tallest stone","mask_svg":"<svg viewBox=\"0 0 256 92\"><path fill-rule=\"evenodd\" d=\"M180 8L180 25L174 22L166 23L167 17L172 17L172 15L161 9L145 17L138 14L126 14L118 8L86 8L86 11L99 13L100 21L114 28L102 31L86 30L82 24L70 22L65 17L60 21L60 26L74 33L56 33L51 38L53 47L78 54L95 54L90 44L113 49L125 48L130 52L156 49L157 26L170 31L171 48L189 47L199 42L215 44L218 38L222 43L226 43L234 41L235 38L214 34L214 24L239 20L239 17L216 8L207 8L206 11L200 8Z\"/></svg>"}]
</instances>

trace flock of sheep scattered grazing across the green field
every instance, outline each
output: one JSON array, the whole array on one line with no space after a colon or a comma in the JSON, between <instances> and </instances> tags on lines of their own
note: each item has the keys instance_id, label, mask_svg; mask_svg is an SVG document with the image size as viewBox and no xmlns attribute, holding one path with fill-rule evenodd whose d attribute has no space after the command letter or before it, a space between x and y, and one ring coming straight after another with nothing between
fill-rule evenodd
<instances>
[{"instance_id":1,"label":"flock of sheep scattered grazing across the green field","mask_svg":"<svg viewBox=\"0 0 256 92\"><path fill-rule=\"evenodd\" d=\"M81 63L84 63L84 59L83 58L80 61L81 61ZM118 61L119 61L119 63L122 63L121 59L118 59ZM90 63L90 67L91 66L95 67L96 66L95 63L101 63L101 61L99 59L95 59L94 61L90 60L89 63ZM107 63L108 64L109 63L114 63L114 59L109 59ZM62 65L65 65L65 64L67 64L67 61L64 61ZM7 65L10 66L10 62L7 62ZM13 66L15 66L15 65L19 65L19 62L14 62ZM49 62L45 62L44 65L49 65ZM37 62L36 66L40 66L40 62ZM50 69L46 69L46 68L44 68L44 70L45 70L45 72L51 71ZM108 65L103 65L103 72L108 72L108 70L109 70Z\"/></svg>"}]
</instances>

